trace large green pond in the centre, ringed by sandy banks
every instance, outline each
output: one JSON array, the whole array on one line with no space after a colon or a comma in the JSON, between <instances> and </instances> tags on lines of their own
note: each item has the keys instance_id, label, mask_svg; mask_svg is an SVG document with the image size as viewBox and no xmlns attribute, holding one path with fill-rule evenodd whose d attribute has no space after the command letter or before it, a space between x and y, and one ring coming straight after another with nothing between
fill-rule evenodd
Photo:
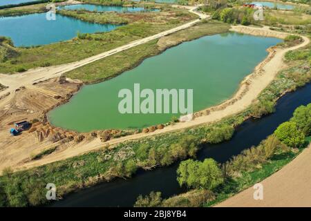
<instances>
[{"instance_id":1,"label":"large green pond in the centre, ringed by sandy banks","mask_svg":"<svg viewBox=\"0 0 311 221\"><path fill-rule=\"evenodd\" d=\"M153 91L193 89L194 111L232 97L239 83L281 39L228 32L201 37L145 59L109 81L84 86L70 102L50 111L55 126L86 132L105 128L143 128L169 122L174 114L121 114L118 93L134 84Z\"/></svg>"}]
</instances>

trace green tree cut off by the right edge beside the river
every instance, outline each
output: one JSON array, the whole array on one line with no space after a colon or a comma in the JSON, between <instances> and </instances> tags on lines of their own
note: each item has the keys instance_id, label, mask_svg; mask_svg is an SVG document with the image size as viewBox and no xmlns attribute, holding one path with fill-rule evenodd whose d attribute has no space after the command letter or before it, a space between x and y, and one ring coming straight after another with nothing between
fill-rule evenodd
<instances>
[{"instance_id":1,"label":"green tree cut off by the right edge beside the river","mask_svg":"<svg viewBox=\"0 0 311 221\"><path fill-rule=\"evenodd\" d=\"M294 111L292 122L295 122L299 130L306 136L311 135L311 104L299 106Z\"/></svg>"}]
</instances>

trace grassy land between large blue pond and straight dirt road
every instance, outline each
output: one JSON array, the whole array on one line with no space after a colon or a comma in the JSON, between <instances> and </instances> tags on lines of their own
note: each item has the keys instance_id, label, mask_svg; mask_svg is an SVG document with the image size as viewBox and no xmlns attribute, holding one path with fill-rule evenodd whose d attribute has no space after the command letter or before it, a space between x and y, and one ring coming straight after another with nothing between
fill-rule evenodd
<instances>
[{"instance_id":1,"label":"grassy land between large blue pond and straight dirt road","mask_svg":"<svg viewBox=\"0 0 311 221\"><path fill-rule=\"evenodd\" d=\"M15 56L8 58L5 62L0 62L0 73L14 73L17 70L28 70L38 66L53 66L78 61L128 44L131 41L169 30L196 18L196 15L187 12L187 10L170 7L164 7L161 12L129 14L131 13L120 13L120 16L125 19L126 16L129 16L129 21L133 21L133 23L116 28L111 32L88 35L87 39L74 38L45 46L12 48L16 52ZM93 13L88 12L88 15L93 15Z\"/></svg>"}]
</instances>

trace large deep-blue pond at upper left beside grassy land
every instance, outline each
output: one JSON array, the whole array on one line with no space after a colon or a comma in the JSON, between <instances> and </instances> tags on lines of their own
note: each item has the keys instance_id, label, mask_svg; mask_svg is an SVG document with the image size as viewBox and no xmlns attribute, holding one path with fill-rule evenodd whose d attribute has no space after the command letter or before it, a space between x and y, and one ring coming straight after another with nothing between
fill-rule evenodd
<instances>
[{"instance_id":1,"label":"large deep-blue pond at upper left beside grassy land","mask_svg":"<svg viewBox=\"0 0 311 221\"><path fill-rule=\"evenodd\" d=\"M46 19L46 13L1 17L0 36L10 37L15 46L37 46L72 39L77 36L77 32L108 32L118 27L89 23L58 14L55 16L56 20Z\"/></svg>"}]
</instances>

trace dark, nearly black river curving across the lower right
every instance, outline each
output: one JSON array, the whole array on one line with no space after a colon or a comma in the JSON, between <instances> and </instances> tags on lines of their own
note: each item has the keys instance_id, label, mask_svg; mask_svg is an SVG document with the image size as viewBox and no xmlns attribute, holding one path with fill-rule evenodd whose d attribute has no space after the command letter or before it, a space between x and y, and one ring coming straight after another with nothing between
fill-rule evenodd
<instances>
[{"instance_id":1,"label":"dark, nearly black river curving across the lower right","mask_svg":"<svg viewBox=\"0 0 311 221\"><path fill-rule=\"evenodd\" d=\"M279 124L292 117L294 110L311 103L311 84L287 93L276 104L276 112L261 119L247 119L236 128L232 140L220 144L205 144L198 152L198 160L213 158L223 163L246 148L258 145L273 133ZM98 184L68 195L52 206L133 206L138 195L161 191L163 198L185 192L176 181L178 163L154 171L138 171L129 180L117 179Z\"/></svg>"}]
</instances>

